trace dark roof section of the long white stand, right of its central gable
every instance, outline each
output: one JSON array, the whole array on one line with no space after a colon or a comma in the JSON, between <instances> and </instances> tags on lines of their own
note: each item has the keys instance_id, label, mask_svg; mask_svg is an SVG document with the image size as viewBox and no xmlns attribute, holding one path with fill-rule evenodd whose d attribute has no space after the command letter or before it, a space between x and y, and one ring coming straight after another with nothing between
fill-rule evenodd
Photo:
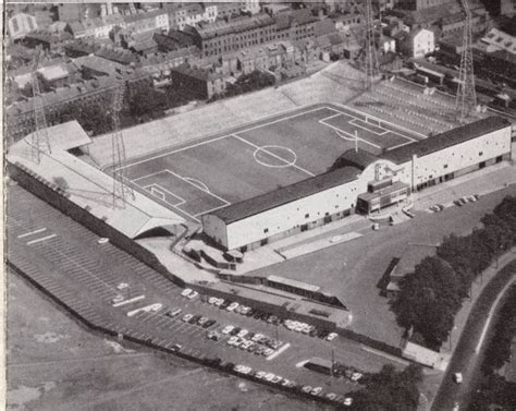
<instances>
[{"instance_id":1,"label":"dark roof section of the long white stand, right of its central gable","mask_svg":"<svg viewBox=\"0 0 516 411\"><path fill-rule=\"evenodd\" d=\"M488 117L472 123L446 131L444 133L428 137L384 153L381 157L394 164L409 161L413 155L423 157L443 148L454 146L477 138L483 134L511 125L508 120L502 117Z\"/></svg>"}]
</instances>

